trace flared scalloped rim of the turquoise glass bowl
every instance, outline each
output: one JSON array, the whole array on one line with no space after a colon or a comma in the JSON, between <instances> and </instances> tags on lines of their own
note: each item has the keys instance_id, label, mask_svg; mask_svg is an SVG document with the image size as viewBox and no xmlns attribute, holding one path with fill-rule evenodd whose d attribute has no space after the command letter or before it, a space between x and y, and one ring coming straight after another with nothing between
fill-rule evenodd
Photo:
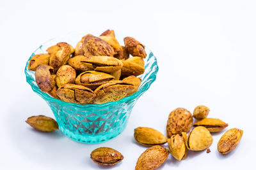
<instances>
[{"instance_id":1,"label":"flared scalloped rim of the turquoise glass bowl","mask_svg":"<svg viewBox=\"0 0 256 170\"><path fill-rule=\"evenodd\" d=\"M150 69L154 68L154 71L152 71L152 73L151 73L152 76L150 76L150 79L149 79L150 81L146 81L145 84L143 84L143 86L140 85L139 89L134 94L132 94L131 96L126 96L126 97L124 97L124 98L122 98L118 101L111 101L111 102L104 103L104 104L79 104L79 103L69 103L69 102L61 101L60 99L56 99L56 98L52 97L47 92L42 92L42 90L40 90L37 85L34 85L32 83L32 81L35 81L35 78L33 78L33 76L31 76L31 74L35 74L35 71L31 71L31 70L28 69L28 64L29 64L29 60L31 59L31 57L33 57L38 50L42 50L42 47L44 45L46 45L47 43L50 43L51 41L54 41L55 39L65 38L66 36L70 36L71 34L82 34L82 33L84 33L84 32L81 32L81 31L79 31L79 32L69 32L68 34L65 34L65 35L62 35L62 36L56 36L54 38L49 39L48 41L45 41L44 43L42 43L42 45L40 45L38 48L36 48L36 50L31 54L28 61L26 62L26 67L24 69L24 72L26 74L26 81L29 83L29 85L31 86L33 91L36 94L38 94L39 96L41 96L45 101L47 101L47 102L48 101L56 102L56 103L59 103L63 106L64 105L65 106L69 105L69 106L75 106L75 107L80 107L80 108L108 107L110 105L122 104L122 103L125 103L126 101L132 101L134 99L137 99L144 92L146 92L149 89L149 87L152 85L152 83L156 80L156 74L159 70L159 67L157 65L157 59L156 59L156 56L154 55L154 53L149 48L147 48L147 46L145 46L145 50L147 50L149 52L146 59L147 59L147 61L148 60L153 60L152 67ZM145 65L145 68L147 68L146 66L147 65ZM31 74L29 74L29 73L31 73ZM143 74L141 74L141 76Z\"/></svg>"}]
</instances>

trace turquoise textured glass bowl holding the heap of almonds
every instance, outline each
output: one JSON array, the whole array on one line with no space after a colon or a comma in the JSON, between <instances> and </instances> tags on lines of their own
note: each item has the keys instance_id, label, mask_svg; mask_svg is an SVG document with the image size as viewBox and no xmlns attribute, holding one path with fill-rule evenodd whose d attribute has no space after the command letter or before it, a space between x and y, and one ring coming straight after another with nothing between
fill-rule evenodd
<instances>
[{"instance_id":1,"label":"turquoise textured glass bowl holding the heap of almonds","mask_svg":"<svg viewBox=\"0 0 256 170\"><path fill-rule=\"evenodd\" d=\"M72 46L85 35L84 32L75 32L53 38L41 45L32 53L46 53L49 46L64 41ZM117 38L118 39L118 38ZM122 42L122 39L118 39ZM158 71L157 60L154 54L146 47L147 58L145 59L145 73L140 75L141 85L132 96L124 97L119 101L104 104L76 104L67 103L54 99L49 94L42 92L36 85L35 72L28 69L28 62L25 68L26 80L36 94L41 96L51 107L60 130L71 139L82 143L100 143L115 138L124 131L130 117L132 108L140 96L148 90L156 80Z\"/></svg>"}]
</instances>

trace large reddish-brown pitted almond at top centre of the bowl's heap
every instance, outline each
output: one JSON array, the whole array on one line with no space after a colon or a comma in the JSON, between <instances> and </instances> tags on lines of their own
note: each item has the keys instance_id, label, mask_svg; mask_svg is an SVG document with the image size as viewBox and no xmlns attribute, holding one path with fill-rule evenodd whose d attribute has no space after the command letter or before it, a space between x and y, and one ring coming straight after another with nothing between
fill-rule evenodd
<instances>
[{"instance_id":1,"label":"large reddish-brown pitted almond at top centre of the bowl's heap","mask_svg":"<svg viewBox=\"0 0 256 170\"><path fill-rule=\"evenodd\" d=\"M112 46L95 36L86 36L86 38L84 38L83 50L86 57L91 57L93 55L113 57L115 53Z\"/></svg>"}]
</instances>

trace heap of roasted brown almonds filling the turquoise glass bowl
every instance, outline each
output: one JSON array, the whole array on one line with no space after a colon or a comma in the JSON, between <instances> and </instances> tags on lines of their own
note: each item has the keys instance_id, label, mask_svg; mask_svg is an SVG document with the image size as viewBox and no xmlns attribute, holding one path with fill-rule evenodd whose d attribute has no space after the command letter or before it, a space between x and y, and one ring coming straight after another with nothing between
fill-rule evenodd
<instances>
[{"instance_id":1,"label":"heap of roasted brown almonds filling the turquoise glass bowl","mask_svg":"<svg viewBox=\"0 0 256 170\"><path fill-rule=\"evenodd\" d=\"M124 38L121 46L113 30L99 37L87 34L73 48L57 43L29 61L38 87L56 99L79 104L103 104L131 96L145 71L145 47ZM132 57L129 57L129 54Z\"/></svg>"}]
</instances>

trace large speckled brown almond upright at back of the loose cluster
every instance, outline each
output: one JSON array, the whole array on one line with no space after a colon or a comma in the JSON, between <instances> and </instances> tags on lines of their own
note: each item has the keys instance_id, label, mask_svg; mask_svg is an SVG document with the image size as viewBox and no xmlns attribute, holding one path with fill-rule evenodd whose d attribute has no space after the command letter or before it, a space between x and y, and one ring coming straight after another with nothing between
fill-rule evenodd
<instances>
[{"instance_id":1,"label":"large speckled brown almond upright at back of the loose cluster","mask_svg":"<svg viewBox=\"0 0 256 170\"><path fill-rule=\"evenodd\" d=\"M171 138L173 134L181 134L181 132L190 131L192 125L193 117L188 110L184 108L173 110L167 121L167 138Z\"/></svg>"}]
</instances>

